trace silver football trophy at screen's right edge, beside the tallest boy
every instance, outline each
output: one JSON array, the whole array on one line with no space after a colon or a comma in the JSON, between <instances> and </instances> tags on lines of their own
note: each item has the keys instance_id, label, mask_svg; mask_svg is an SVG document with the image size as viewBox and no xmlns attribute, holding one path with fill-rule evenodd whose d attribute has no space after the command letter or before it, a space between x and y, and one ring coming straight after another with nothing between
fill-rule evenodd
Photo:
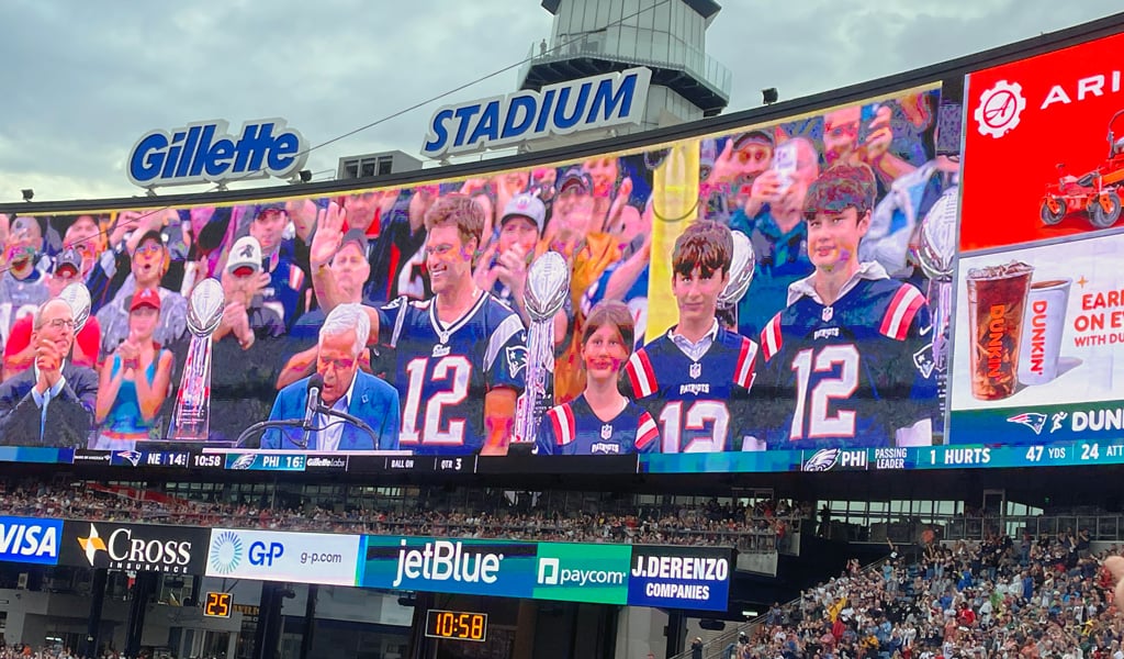
<instances>
[{"instance_id":1,"label":"silver football trophy at screen's right edge, beside the tallest boy","mask_svg":"<svg viewBox=\"0 0 1124 659\"><path fill-rule=\"evenodd\" d=\"M933 364L941 398L945 396L949 368L949 318L952 312L952 276L957 256L957 200L959 188L945 190L921 223L917 262L928 277L928 306L933 313Z\"/></svg>"}]
</instances>

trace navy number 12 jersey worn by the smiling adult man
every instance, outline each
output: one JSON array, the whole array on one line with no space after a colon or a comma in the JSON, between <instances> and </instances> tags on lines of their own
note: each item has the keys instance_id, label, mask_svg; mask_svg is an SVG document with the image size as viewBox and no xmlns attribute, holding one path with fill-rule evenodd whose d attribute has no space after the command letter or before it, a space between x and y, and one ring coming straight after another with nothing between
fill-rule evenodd
<instances>
[{"instance_id":1,"label":"navy number 12 jersey worn by the smiling adult man","mask_svg":"<svg viewBox=\"0 0 1124 659\"><path fill-rule=\"evenodd\" d=\"M379 340L397 353L402 406L399 445L417 454L463 454L484 444L484 395L522 391L527 365L523 321L491 295L448 325L434 300L399 298L379 309Z\"/></svg>"}]
</instances>

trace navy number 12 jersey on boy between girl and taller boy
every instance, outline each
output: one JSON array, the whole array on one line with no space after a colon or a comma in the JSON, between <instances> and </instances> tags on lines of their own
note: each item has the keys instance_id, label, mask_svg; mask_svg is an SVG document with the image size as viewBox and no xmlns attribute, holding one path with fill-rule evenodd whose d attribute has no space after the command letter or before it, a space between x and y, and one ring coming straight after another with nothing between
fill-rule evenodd
<instances>
[{"instance_id":1,"label":"navy number 12 jersey on boy between girl and taller boy","mask_svg":"<svg viewBox=\"0 0 1124 659\"><path fill-rule=\"evenodd\" d=\"M633 353L625 367L637 403L659 423L664 453L741 451L752 432L750 387L758 344L718 327L695 361L671 332Z\"/></svg>"}]
</instances>

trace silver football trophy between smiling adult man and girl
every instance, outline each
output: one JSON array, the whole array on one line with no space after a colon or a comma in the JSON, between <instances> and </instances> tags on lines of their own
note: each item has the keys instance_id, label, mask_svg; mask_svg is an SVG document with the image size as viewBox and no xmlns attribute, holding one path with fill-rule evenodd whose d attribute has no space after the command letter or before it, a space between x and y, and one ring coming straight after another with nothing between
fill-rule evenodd
<instances>
[{"instance_id":1,"label":"silver football trophy between smiling adult man and girl","mask_svg":"<svg viewBox=\"0 0 1124 659\"><path fill-rule=\"evenodd\" d=\"M570 267L558 252L546 252L527 270L524 305L531 316L527 332L526 387L515 415L513 444L533 445L538 422L553 405L547 378L554 374L554 315L570 295Z\"/></svg>"}]
</instances>

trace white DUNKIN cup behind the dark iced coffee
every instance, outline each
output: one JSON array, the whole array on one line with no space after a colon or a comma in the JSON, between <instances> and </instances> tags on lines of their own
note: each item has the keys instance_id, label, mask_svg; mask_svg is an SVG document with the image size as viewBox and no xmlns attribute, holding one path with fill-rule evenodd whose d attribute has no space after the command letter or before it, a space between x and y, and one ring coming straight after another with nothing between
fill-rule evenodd
<instances>
[{"instance_id":1,"label":"white DUNKIN cup behind the dark iced coffee","mask_svg":"<svg viewBox=\"0 0 1124 659\"><path fill-rule=\"evenodd\" d=\"M1070 281L1051 279L1031 285L1018 350L1018 381L1024 385L1045 385L1058 377Z\"/></svg>"}]
</instances>

